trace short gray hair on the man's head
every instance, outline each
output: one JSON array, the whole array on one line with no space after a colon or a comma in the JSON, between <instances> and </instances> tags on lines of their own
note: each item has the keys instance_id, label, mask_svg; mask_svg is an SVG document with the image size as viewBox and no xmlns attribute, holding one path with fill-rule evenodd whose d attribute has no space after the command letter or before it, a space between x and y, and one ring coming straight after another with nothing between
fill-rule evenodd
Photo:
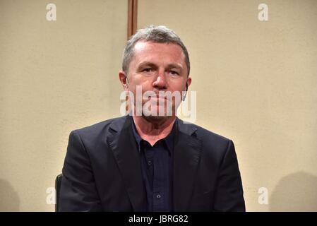
<instances>
[{"instance_id":1,"label":"short gray hair on the man's head","mask_svg":"<svg viewBox=\"0 0 317 226\"><path fill-rule=\"evenodd\" d=\"M133 57L133 47L138 41L146 41L146 42L157 42L157 43L172 43L178 44L184 52L185 55L185 63L187 66L188 74L191 69L191 64L189 62L189 53L181 41L180 37L171 29L165 26L155 26L150 25L147 28L140 29L131 36L131 38L126 42L126 47L124 48L124 56L122 59L122 70L128 74L128 66Z\"/></svg>"}]
</instances>

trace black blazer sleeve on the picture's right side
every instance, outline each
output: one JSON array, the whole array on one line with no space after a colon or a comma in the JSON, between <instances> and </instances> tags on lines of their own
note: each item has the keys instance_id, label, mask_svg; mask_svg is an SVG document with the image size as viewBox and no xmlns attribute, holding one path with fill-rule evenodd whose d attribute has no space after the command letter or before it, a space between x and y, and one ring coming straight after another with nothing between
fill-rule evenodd
<instances>
[{"instance_id":1,"label":"black blazer sleeve on the picture's right side","mask_svg":"<svg viewBox=\"0 0 317 226\"><path fill-rule=\"evenodd\" d=\"M220 165L215 191L215 211L246 211L244 191L234 143L229 141Z\"/></svg>"}]
</instances>

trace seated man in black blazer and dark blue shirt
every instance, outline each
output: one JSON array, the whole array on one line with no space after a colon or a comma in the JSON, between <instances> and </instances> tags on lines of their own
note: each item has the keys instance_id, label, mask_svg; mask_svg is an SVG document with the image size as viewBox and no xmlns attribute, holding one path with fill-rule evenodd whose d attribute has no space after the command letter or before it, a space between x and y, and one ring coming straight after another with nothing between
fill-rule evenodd
<instances>
[{"instance_id":1,"label":"seated man in black blazer and dark blue shirt","mask_svg":"<svg viewBox=\"0 0 317 226\"><path fill-rule=\"evenodd\" d=\"M133 94L132 115L71 132L59 210L245 210L232 141L184 123L176 117L180 101L162 95L184 94L189 72L189 54L172 30L151 25L128 40L119 79ZM138 103L138 88L154 95Z\"/></svg>"}]
</instances>

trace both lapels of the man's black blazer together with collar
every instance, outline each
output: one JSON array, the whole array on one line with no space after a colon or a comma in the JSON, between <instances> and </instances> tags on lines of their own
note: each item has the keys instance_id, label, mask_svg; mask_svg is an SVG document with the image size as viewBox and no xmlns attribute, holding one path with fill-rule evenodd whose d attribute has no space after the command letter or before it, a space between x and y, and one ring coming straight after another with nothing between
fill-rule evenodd
<instances>
[{"instance_id":1,"label":"both lapels of the man's black blazer together with collar","mask_svg":"<svg viewBox=\"0 0 317 226\"><path fill-rule=\"evenodd\" d=\"M124 179L126 191L134 211L145 211L146 195L143 186L140 156L133 136L132 117L120 117L109 126L111 135L107 143ZM201 140L197 138L197 126L177 118L174 140L173 203L174 211L186 211L193 194L193 184L201 157Z\"/></svg>"}]
</instances>

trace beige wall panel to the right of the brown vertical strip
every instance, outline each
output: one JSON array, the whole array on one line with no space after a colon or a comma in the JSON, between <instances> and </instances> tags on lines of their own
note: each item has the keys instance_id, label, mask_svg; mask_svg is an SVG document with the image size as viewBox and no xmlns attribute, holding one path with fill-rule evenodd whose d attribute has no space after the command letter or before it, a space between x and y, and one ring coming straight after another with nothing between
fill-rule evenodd
<instances>
[{"instance_id":1,"label":"beige wall panel to the right of the brown vertical strip","mask_svg":"<svg viewBox=\"0 0 317 226\"><path fill-rule=\"evenodd\" d=\"M258 4L268 21L258 20ZM139 0L183 39L197 121L236 146L249 211L317 211L317 1ZM258 189L268 189L268 205Z\"/></svg>"}]
</instances>

